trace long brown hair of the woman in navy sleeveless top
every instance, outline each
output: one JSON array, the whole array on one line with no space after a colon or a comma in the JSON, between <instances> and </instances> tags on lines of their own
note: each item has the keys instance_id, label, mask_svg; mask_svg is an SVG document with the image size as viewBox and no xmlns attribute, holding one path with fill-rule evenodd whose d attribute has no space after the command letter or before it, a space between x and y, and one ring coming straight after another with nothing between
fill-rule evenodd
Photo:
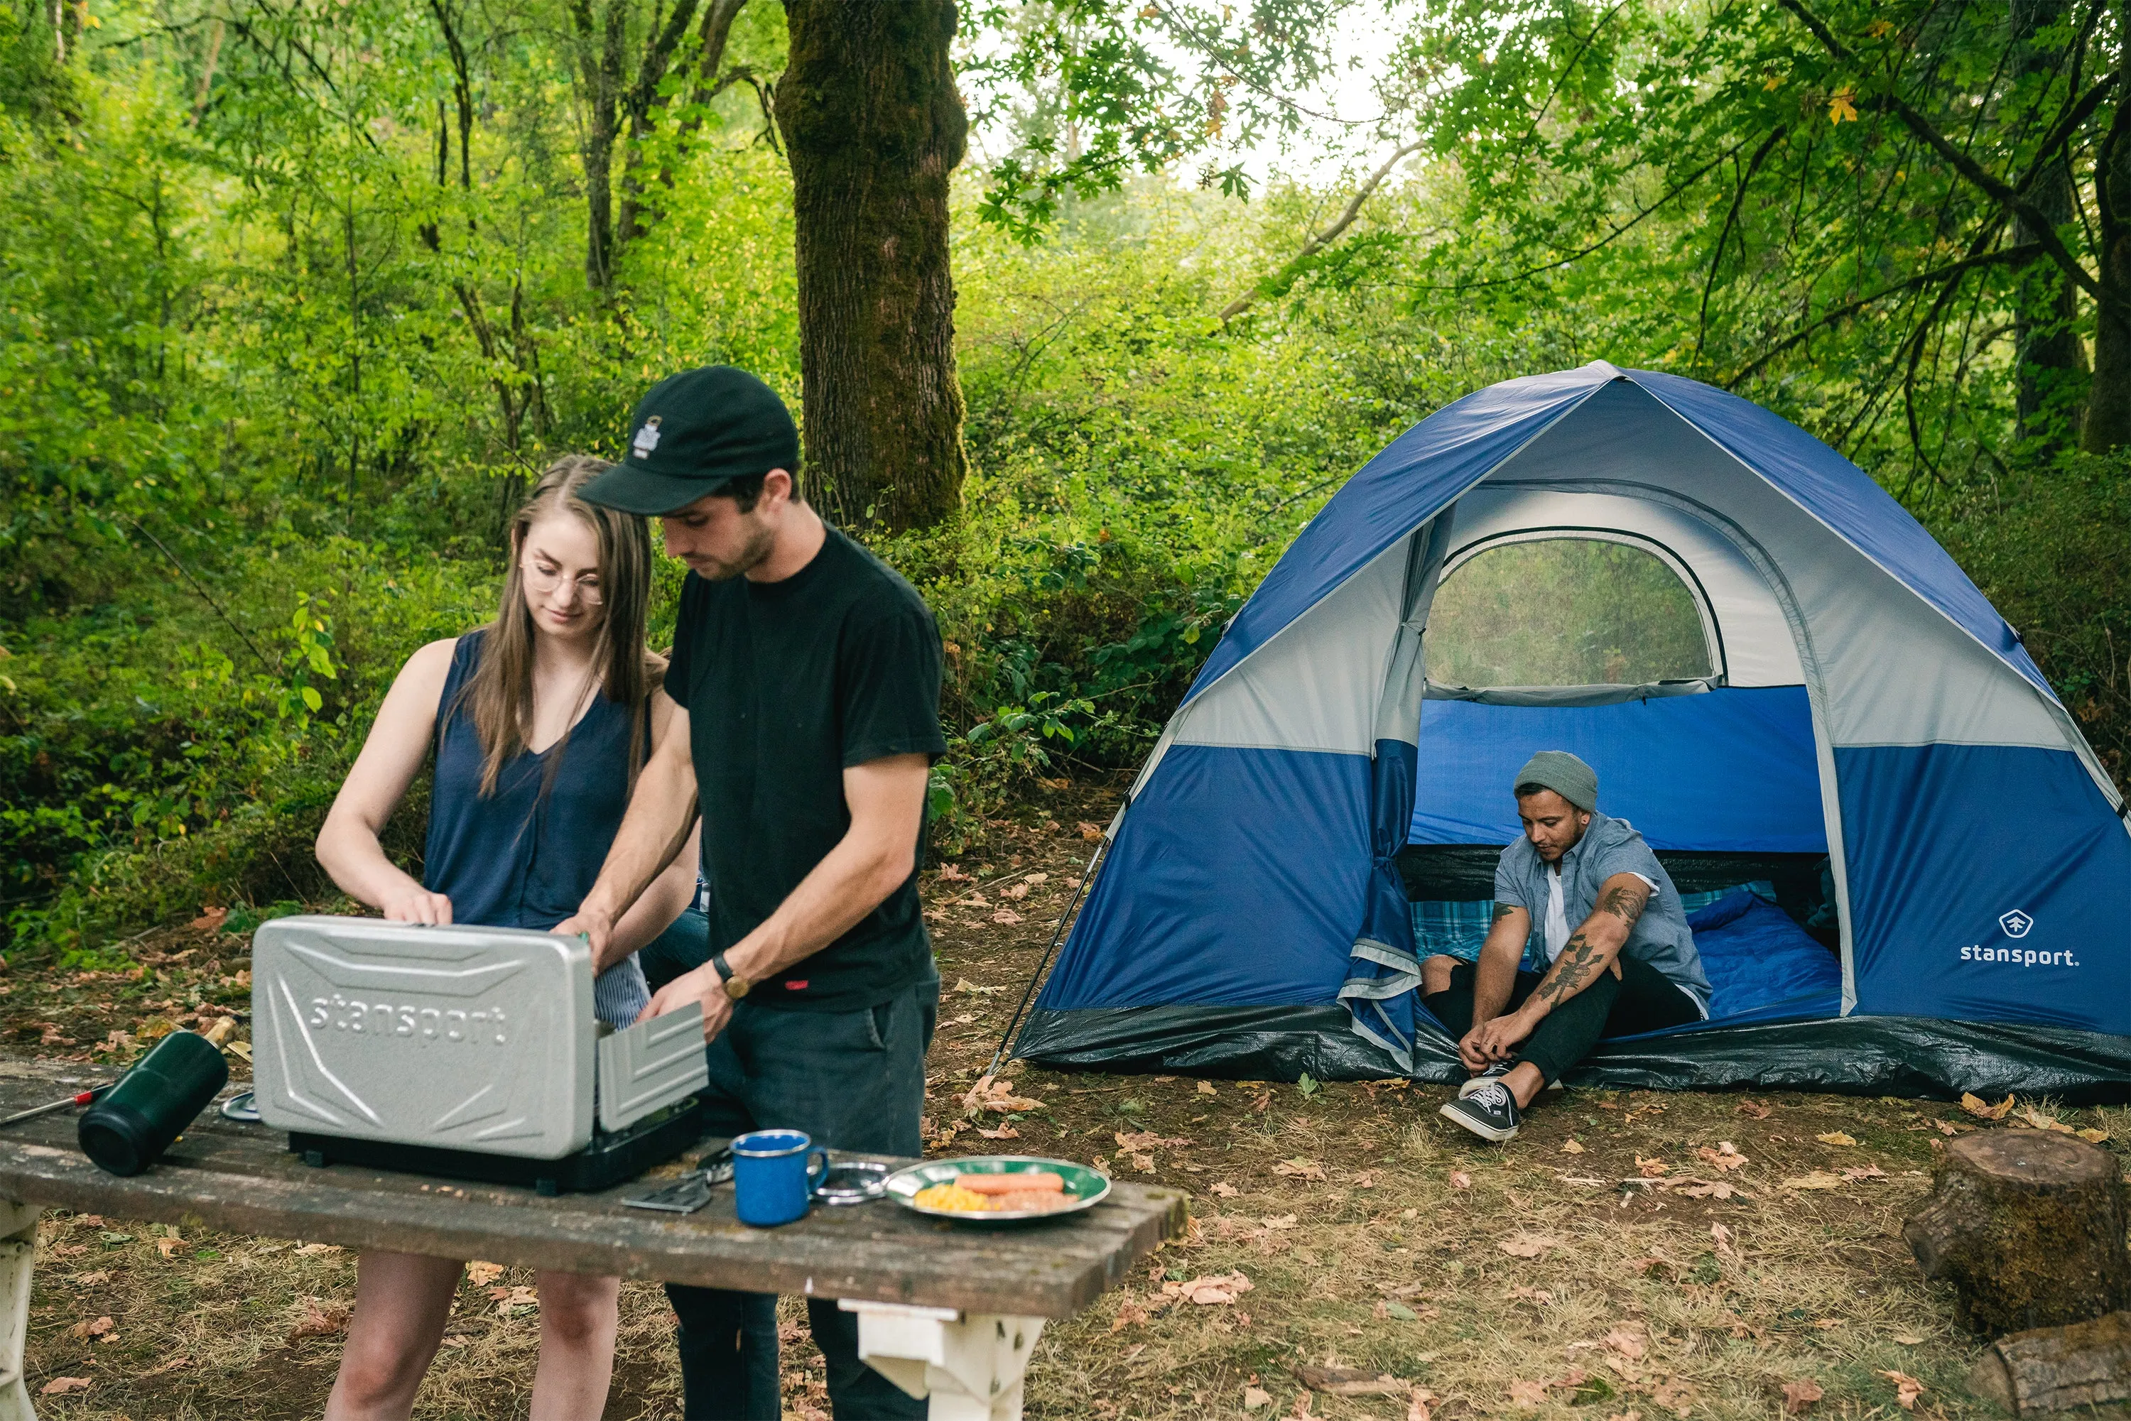
<instances>
[{"instance_id":1,"label":"long brown hair of the woman in navy sleeveless top","mask_svg":"<svg viewBox=\"0 0 2131 1421\"><path fill-rule=\"evenodd\" d=\"M599 641L592 646L592 665L599 671L599 688L609 701L639 709L650 697L663 663L644 650L644 618L652 590L652 537L650 524L618 509L599 507L578 496L584 484L607 469L603 458L590 454L565 454L548 464L533 494L511 518L509 567L503 573L503 603L497 620L482 631L482 665L458 692L454 712L465 705L473 720L475 735L482 737L482 797L497 793L497 778L503 765L526 750L526 731L533 724L533 611L524 594L524 543L533 524L550 513L569 513L599 539L599 594L605 616L599 622ZM575 707L571 707L575 709ZM452 716L443 718L450 724ZM569 733L563 731L548 756L541 775L541 795L554 780L554 769L569 748ZM635 786L637 767L644 761L644 716L631 716L629 731L629 782Z\"/></svg>"}]
</instances>

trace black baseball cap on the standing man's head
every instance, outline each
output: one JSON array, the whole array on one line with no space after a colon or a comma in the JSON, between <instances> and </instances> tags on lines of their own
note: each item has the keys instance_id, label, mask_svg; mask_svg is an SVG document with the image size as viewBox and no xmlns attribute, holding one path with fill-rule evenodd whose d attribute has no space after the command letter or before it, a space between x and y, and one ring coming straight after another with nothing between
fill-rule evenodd
<instances>
[{"instance_id":1,"label":"black baseball cap on the standing man's head","mask_svg":"<svg viewBox=\"0 0 2131 1421\"><path fill-rule=\"evenodd\" d=\"M742 369L705 364L637 401L622 460L578 496L650 518L771 469L799 471L799 426L784 401Z\"/></svg>"}]
</instances>

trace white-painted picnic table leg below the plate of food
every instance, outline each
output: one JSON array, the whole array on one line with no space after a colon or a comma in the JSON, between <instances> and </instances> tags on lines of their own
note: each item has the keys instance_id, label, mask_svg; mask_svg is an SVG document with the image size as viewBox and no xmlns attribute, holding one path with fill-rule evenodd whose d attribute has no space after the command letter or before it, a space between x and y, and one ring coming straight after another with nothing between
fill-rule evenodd
<instances>
[{"instance_id":1,"label":"white-painted picnic table leg below the plate of food","mask_svg":"<svg viewBox=\"0 0 2131 1421\"><path fill-rule=\"evenodd\" d=\"M931 1421L1021 1421L1021 1376L1044 1319L848 1297L837 1306L859 1314L865 1366L929 1395Z\"/></svg>"}]
</instances>

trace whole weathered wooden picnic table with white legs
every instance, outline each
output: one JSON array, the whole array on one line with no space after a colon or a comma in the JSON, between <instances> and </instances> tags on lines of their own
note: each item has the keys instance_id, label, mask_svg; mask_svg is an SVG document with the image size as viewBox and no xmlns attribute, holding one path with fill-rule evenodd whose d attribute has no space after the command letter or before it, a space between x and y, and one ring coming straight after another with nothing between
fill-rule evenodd
<instances>
[{"instance_id":1,"label":"whole weathered wooden picnic table with white legs","mask_svg":"<svg viewBox=\"0 0 2131 1421\"><path fill-rule=\"evenodd\" d=\"M109 1074L70 1061L0 1059L0 1114ZM239 1089L232 1084L222 1099ZM816 1208L780 1229L752 1229L733 1216L731 1187L714 1191L695 1214L656 1214L622 1208L624 1197L646 1193L656 1180L541 1197L507 1185L354 1165L320 1170L290 1155L281 1131L224 1121L213 1106L162 1163L119 1178L77 1148L77 1121L79 1112L64 1110L0 1133L0 1421L36 1417L21 1355L40 1208L837 1297L859 1314L861 1357L912 1395L931 1395L933 1421L1021 1417L1021 1376L1044 1321L1091 1304L1185 1223L1181 1191L1117 1182L1091 1210L1016 1227L955 1225L876 1199ZM835 1159L912 1163L852 1153Z\"/></svg>"}]
</instances>

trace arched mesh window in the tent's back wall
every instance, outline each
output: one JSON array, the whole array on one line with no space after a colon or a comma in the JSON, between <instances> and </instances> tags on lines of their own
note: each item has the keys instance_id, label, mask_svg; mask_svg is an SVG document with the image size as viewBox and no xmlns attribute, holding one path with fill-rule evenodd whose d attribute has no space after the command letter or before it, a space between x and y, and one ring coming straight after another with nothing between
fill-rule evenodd
<instances>
[{"instance_id":1,"label":"arched mesh window in the tent's back wall","mask_svg":"<svg viewBox=\"0 0 2131 1421\"><path fill-rule=\"evenodd\" d=\"M1436 590L1438 686L1647 686L1715 675L1694 590L1649 548L1536 537L1481 548Z\"/></svg>"}]
</instances>

